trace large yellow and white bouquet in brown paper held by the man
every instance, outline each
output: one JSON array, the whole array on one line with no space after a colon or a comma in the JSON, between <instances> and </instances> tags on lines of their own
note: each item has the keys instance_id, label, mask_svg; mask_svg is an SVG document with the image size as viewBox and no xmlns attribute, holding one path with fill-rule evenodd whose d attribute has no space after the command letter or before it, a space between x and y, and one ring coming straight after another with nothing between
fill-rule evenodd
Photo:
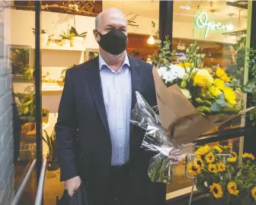
<instances>
[{"instance_id":1,"label":"large yellow and white bouquet in brown paper held by the man","mask_svg":"<svg viewBox=\"0 0 256 205\"><path fill-rule=\"evenodd\" d=\"M165 41L168 48L168 41ZM204 55L197 43L184 57L167 58L173 52L162 49L153 68L159 116L137 93L132 123L146 130L142 147L158 152L149 165L152 181L171 183L173 166L196 137L247 112L242 110L243 86L224 68L203 68ZM252 109L252 108L251 108Z\"/></svg>"}]
</instances>

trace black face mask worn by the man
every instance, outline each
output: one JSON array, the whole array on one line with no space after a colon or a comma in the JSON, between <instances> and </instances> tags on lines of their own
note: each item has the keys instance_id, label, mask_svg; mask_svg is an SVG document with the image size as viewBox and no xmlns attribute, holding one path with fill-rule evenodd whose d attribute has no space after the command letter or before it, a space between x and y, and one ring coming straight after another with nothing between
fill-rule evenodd
<instances>
[{"instance_id":1,"label":"black face mask worn by the man","mask_svg":"<svg viewBox=\"0 0 256 205\"><path fill-rule=\"evenodd\" d=\"M99 33L99 32L98 32ZM120 29L110 30L108 33L101 36L100 42L98 44L104 51L112 55L120 55L125 49L128 43L127 36Z\"/></svg>"}]
</instances>

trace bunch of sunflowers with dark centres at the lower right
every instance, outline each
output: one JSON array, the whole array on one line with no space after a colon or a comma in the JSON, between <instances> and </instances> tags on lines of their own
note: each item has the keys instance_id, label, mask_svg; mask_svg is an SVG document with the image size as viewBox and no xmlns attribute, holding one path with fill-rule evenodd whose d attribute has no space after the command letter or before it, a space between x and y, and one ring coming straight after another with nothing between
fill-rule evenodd
<instances>
[{"instance_id":1,"label":"bunch of sunflowers with dark centres at the lower right","mask_svg":"<svg viewBox=\"0 0 256 205\"><path fill-rule=\"evenodd\" d=\"M196 179L197 190L209 194L214 204L253 204L256 200L256 165L251 153L238 156L231 147L203 146L195 152L192 160L182 162L186 172Z\"/></svg>"}]
</instances>

